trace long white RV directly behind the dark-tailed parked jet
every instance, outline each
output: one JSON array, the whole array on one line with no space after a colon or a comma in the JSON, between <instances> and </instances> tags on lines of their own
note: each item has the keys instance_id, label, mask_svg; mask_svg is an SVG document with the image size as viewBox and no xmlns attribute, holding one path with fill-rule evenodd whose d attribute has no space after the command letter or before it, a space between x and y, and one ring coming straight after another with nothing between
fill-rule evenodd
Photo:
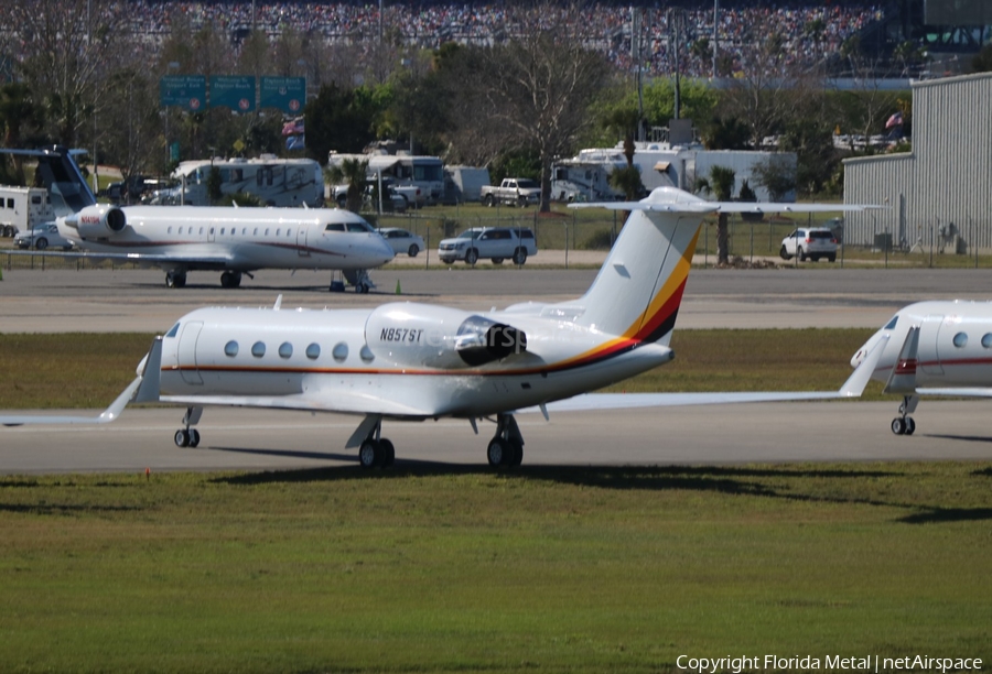
<instances>
[{"instance_id":1,"label":"long white RV directly behind the dark-tailed parked jet","mask_svg":"<svg viewBox=\"0 0 992 674\"><path fill-rule=\"evenodd\" d=\"M317 207L324 202L324 174L321 165L308 159L195 160L181 162L172 173L179 185L155 193L153 204L209 205L207 181L211 171L220 173L222 194L251 194L267 206Z\"/></svg>"}]
</instances>

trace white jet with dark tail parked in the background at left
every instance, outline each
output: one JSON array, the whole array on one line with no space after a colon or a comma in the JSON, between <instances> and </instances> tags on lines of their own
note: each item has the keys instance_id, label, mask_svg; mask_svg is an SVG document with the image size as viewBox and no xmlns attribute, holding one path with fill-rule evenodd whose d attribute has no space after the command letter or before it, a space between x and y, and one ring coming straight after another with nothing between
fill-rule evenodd
<instances>
[{"instance_id":1,"label":"white jet with dark tail parked in the background at left","mask_svg":"<svg viewBox=\"0 0 992 674\"><path fill-rule=\"evenodd\" d=\"M97 204L64 148L18 153L37 157L35 183L48 189L60 232L85 251L45 254L159 267L169 287L183 287L196 270L222 272L224 287L259 269L339 270L359 293L374 286L367 270L393 257L347 210Z\"/></svg>"}]
</instances>

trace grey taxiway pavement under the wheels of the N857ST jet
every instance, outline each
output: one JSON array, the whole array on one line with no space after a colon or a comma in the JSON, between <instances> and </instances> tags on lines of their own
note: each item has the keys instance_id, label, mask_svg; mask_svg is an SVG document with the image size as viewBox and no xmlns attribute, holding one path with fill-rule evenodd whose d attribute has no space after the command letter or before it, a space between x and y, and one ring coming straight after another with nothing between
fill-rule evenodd
<instances>
[{"instance_id":1,"label":"grey taxiway pavement under the wheels of the N857ST jet","mask_svg":"<svg viewBox=\"0 0 992 674\"><path fill-rule=\"evenodd\" d=\"M913 436L888 423L897 402L759 403L518 415L524 466L779 461L989 460L988 403L924 401ZM78 412L74 412L78 413ZM201 446L172 435L181 409L128 410L105 426L0 428L0 474L283 470L357 466L345 449L358 417L207 409ZM494 426L386 422L397 465L486 465Z\"/></svg>"}]
</instances>

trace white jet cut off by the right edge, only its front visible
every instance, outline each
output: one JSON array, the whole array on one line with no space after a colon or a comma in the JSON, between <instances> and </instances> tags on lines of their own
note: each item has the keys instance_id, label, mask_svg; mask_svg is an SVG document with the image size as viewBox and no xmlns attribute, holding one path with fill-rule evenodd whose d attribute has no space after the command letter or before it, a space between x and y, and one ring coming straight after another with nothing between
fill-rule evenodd
<instances>
[{"instance_id":1,"label":"white jet cut off by the right edge, only its front visible","mask_svg":"<svg viewBox=\"0 0 992 674\"><path fill-rule=\"evenodd\" d=\"M909 415L920 395L992 398L992 303L910 304L858 349L851 366L859 368L874 350L872 378L885 382L884 393L903 395L892 420L896 435L916 431Z\"/></svg>"}]
</instances>

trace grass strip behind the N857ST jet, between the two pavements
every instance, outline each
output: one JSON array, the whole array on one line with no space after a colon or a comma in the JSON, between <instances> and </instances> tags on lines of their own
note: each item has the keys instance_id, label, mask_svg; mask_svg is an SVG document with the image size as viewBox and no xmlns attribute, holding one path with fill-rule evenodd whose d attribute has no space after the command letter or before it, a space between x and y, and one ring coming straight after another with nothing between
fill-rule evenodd
<instances>
[{"instance_id":1,"label":"grass strip behind the N857ST jet, between the two pavements","mask_svg":"<svg viewBox=\"0 0 992 674\"><path fill-rule=\"evenodd\" d=\"M676 359L607 391L837 389L871 329L679 330ZM0 410L103 407L134 378L152 335L0 334ZM30 372L30 377L25 377ZM877 396L878 387L870 388Z\"/></svg>"}]
</instances>

